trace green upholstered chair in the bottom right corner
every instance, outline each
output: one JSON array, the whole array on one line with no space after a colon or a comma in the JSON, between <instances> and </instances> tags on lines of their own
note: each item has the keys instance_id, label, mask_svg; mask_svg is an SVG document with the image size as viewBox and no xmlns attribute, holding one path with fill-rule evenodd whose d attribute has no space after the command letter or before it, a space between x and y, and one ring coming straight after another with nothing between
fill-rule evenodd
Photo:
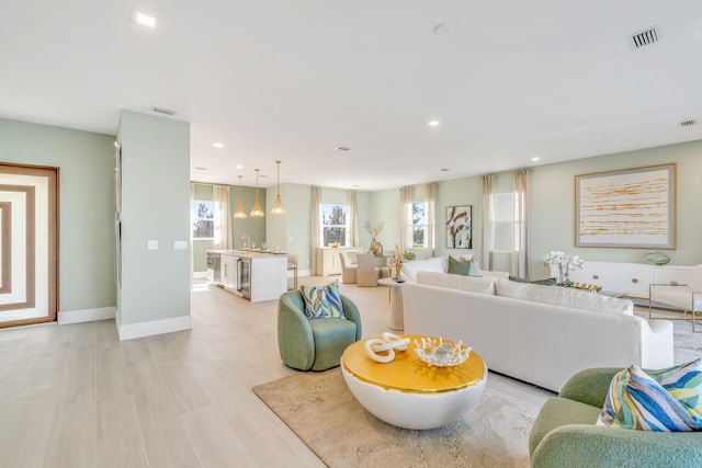
<instances>
[{"instance_id":1,"label":"green upholstered chair in the bottom right corner","mask_svg":"<svg viewBox=\"0 0 702 468\"><path fill-rule=\"evenodd\" d=\"M595 425L621 368L582 370L541 409L529 437L533 468L700 467L702 432L632 431Z\"/></svg>"}]
</instances>

